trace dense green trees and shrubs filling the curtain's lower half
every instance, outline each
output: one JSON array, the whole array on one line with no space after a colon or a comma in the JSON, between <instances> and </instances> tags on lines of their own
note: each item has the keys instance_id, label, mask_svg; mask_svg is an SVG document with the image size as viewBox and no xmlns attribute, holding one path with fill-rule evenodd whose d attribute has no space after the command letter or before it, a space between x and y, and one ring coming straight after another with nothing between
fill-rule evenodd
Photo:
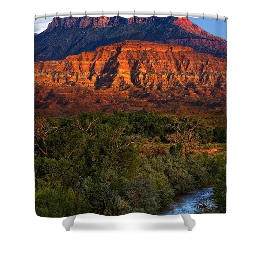
<instances>
[{"instance_id":1,"label":"dense green trees and shrubs filling the curtain's lower half","mask_svg":"<svg viewBox=\"0 0 256 256\"><path fill-rule=\"evenodd\" d=\"M170 117L120 111L58 119L35 116L36 213L157 214L174 195L212 181L217 210L224 212L224 155L185 156L180 142L168 143L166 156L141 155L147 138L167 143L166 135L175 132L168 125L172 122ZM200 126L197 133L199 143L225 141L220 127Z\"/></svg>"}]
</instances>

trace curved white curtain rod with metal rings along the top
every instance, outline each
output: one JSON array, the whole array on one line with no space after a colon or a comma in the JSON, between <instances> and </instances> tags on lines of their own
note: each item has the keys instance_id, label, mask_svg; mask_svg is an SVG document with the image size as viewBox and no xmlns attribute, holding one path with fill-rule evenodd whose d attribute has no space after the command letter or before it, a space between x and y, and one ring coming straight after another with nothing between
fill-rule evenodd
<instances>
[{"instance_id":1,"label":"curved white curtain rod with metal rings along the top","mask_svg":"<svg viewBox=\"0 0 256 256\"><path fill-rule=\"evenodd\" d=\"M74 15L113 15L116 14L117 16L119 15L124 15L124 14L131 14L131 15L163 15L163 16L186 16L188 17L200 17L200 18L210 18L210 19L216 19L216 20L228 20L228 17L226 16L220 16L216 13L216 15L214 14L204 14L204 13L192 13L192 12L141 12L141 11L100 11L100 12L56 12L56 13L45 13L45 14L40 14L40 15L35 15L35 20L40 19L40 18L47 18L47 17L59 17L59 16L74 16Z\"/></svg>"}]
</instances>

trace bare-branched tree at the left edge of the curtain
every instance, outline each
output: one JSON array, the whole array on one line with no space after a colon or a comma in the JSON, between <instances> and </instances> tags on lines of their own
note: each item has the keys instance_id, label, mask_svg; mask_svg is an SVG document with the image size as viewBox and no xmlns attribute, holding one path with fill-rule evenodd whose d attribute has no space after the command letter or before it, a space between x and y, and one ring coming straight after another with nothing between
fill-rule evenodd
<instances>
[{"instance_id":1,"label":"bare-branched tree at the left edge of the curtain","mask_svg":"<svg viewBox=\"0 0 256 256\"><path fill-rule=\"evenodd\" d=\"M46 117L38 116L35 118L35 146L44 155L48 155L46 140L48 138L49 132L54 129L58 129L57 126L51 126ZM41 145L39 145L41 144Z\"/></svg>"}]
</instances>

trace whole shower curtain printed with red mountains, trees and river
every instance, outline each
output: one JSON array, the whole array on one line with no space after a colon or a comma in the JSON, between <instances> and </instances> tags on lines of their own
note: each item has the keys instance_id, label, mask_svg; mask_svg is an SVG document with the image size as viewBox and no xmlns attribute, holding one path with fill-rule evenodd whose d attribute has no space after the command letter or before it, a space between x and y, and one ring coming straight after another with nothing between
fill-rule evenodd
<instances>
[{"instance_id":1,"label":"whole shower curtain printed with red mountains, trees and river","mask_svg":"<svg viewBox=\"0 0 256 256\"><path fill-rule=\"evenodd\" d=\"M36 214L225 213L226 29L36 20Z\"/></svg>"}]
</instances>

